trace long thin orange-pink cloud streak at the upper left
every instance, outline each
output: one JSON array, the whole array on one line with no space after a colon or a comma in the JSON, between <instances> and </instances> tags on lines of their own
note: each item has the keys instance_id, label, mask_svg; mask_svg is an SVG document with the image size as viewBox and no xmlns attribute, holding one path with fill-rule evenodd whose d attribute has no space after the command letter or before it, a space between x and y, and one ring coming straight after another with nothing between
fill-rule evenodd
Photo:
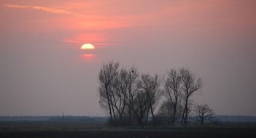
<instances>
[{"instance_id":1,"label":"long thin orange-pink cloud streak at the upper left","mask_svg":"<svg viewBox=\"0 0 256 138\"><path fill-rule=\"evenodd\" d=\"M50 13L60 14L60 15L82 16L82 14L79 14L76 12L69 12L67 10L55 9L50 7L39 7L34 5L15 5L15 4L4 4L4 6L9 8L18 8L18 9L35 9L35 10L40 10L40 11L50 12Z\"/></svg>"}]
</instances>

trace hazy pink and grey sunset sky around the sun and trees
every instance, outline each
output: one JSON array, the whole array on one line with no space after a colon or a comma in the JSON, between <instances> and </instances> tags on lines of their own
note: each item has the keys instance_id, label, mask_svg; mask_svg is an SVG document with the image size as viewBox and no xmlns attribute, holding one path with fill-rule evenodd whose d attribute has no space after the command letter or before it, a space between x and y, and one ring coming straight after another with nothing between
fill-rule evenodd
<instances>
[{"instance_id":1,"label":"hazy pink and grey sunset sky around the sun and trees","mask_svg":"<svg viewBox=\"0 0 256 138\"><path fill-rule=\"evenodd\" d=\"M190 68L194 100L256 115L254 0L1 0L0 115L107 115L103 63L163 76ZM81 50L82 44L94 50Z\"/></svg>"}]
</instances>

